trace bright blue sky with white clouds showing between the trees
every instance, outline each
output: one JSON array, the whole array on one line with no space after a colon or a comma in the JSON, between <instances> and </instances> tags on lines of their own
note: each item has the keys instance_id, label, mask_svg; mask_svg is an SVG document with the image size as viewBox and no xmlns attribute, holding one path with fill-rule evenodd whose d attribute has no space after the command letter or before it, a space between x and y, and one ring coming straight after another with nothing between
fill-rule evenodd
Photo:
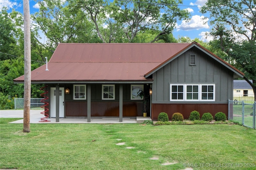
<instances>
[{"instance_id":1,"label":"bright blue sky with white clouds showing between the trees","mask_svg":"<svg viewBox=\"0 0 256 170\"><path fill-rule=\"evenodd\" d=\"M38 5L34 0L30 0L30 14L38 11ZM205 37L205 33L210 31L210 25L207 21L204 24L202 18L207 17L199 12L200 6L203 6L207 0L183 0L181 9L187 9L192 18L189 22L178 21L176 24L176 29L173 31L175 38L178 37L189 37L190 39L199 38L204 42L208 42L211 38ZM23 13L23 0L0 0L0 9L6 6L8 9L14 8L16 11ZM44 36L41 36L44 37Z\"/></svg>"}]
</instances>

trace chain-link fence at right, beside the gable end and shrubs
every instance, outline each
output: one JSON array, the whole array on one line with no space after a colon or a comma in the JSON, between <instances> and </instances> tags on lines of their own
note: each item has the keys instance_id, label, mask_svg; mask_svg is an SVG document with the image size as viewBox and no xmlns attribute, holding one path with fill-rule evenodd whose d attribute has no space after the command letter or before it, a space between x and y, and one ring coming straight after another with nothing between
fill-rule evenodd
<instances>
[{"instance_id":1,"label":"chain-link fence at right, beside the gable end and shrubs","mask_svg":"<svg viewBox=\"0 0 256 170\"><path fill-rule=\"evenodd\" d=\"M255 129L256 102L253 104L244 101L228 100L228 119L237 121L243 126Z\"/></svg>"}]
</instances>

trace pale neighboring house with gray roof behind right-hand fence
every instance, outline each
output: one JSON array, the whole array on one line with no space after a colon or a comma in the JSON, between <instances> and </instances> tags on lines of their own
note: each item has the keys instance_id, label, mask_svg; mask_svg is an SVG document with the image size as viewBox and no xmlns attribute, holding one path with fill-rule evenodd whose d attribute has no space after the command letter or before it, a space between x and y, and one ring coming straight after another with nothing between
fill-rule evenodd
<instances>
[{"instance_id":1,"label":"pale neighboring house with gray roof behind right-hand fence","mask_svg":"<svg viewBox=\"0 0 256 170\"><path fill-rule=\"evenodd\" d=\"M250 80L252 82L252 80ZM252 86L246 80L234 80L234 99L239 97L254 97Z\"/></svg>"}]
</instances>

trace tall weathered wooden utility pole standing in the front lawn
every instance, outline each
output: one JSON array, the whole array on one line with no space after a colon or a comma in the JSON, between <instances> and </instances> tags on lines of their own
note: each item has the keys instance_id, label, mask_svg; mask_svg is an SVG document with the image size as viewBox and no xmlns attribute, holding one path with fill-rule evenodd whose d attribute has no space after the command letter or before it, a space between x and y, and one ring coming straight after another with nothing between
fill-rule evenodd
<instances>
[{"instance_id":1,"label":"tall weathered wooden utility pole standing in the front lawn","mask_svg":"<svg viewBox=\"0 0 256 170\"><path fill-rule=\"evenodd\" d=\"M23 0L24 14L24 112L23 132L30 132L31 44L29 0Z\"/></svg>"}]
</instances>

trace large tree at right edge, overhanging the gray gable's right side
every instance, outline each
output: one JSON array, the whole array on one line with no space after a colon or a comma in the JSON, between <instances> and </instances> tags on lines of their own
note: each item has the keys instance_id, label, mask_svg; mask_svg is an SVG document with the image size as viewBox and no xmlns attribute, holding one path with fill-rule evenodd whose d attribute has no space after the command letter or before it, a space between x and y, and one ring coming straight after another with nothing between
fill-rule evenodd
<instances>
[{"instance_id":1,"label":"large tree at right edge, overhanging the gray gable's right side","mask_svg":"<svg viewBox=\"0 0 256 170\"><path fill-rule=\"evenodd\" d=\"M230 64L244 72L256 100L256 1L208 0L201 12L210 12L211 45L221 49ZM210 8L208 8L210 7ZM250 82L249 80L252 80Z\"/></svg>"}]
</instances>

